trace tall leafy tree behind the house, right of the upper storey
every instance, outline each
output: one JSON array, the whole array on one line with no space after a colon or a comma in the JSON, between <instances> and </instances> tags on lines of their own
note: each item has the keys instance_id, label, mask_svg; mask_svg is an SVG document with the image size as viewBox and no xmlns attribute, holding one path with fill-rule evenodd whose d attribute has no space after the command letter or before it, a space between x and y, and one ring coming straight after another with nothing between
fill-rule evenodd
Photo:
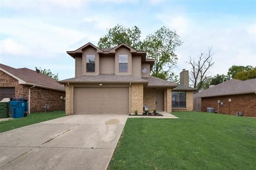
<instances>
[{"instance_id":1,"label":"tall leafy tree behind the house, right of the upper storey","mask_svg":"<svg viewBox=\"0 0 256 170\"><path fill-rule=\"evenodd\" d=\"M162 27L154 34L150 34L143 40L141 48L146 50L147 56L155 60L152 68L154 77L173 80L174 73L170 72L177 64L178 57L175 49L182 44L176 32Z\"/></svg>"}]
</instances>

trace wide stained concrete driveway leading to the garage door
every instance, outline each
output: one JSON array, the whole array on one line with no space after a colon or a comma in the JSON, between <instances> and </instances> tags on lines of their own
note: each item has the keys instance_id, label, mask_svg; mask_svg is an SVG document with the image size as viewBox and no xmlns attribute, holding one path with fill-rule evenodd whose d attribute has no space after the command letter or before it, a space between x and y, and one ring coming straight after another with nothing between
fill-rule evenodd
<instances>
[{"instance_id":1,"label":"wide stained concrete driveway leading to the garage door","mask_svg":"<svg viewBox=\"0 0 256 170\"><path fill-rule=\"evenodd\" d=\"M71 115L0 133L0 169L107 169L127 115Z\"/></svg>"}]
</instances>

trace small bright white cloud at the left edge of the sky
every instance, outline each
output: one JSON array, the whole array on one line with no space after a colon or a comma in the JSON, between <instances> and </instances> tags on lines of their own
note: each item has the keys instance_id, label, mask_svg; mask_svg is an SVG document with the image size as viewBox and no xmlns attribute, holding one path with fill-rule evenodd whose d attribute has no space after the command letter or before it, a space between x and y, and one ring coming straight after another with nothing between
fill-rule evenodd
<instances>
[{"instance_id":1,"label":"small bright white cloud at the left edge of the sky","mask_svg":"<svg viewBox=\"0 0 256 170\"><path fill-rule=\"evenodd\" d=\"M0 55L10 54L10 55L28 55L29 50L15 42L13 39L8 38L0 41Z\"/></svg>"}]
</instances>

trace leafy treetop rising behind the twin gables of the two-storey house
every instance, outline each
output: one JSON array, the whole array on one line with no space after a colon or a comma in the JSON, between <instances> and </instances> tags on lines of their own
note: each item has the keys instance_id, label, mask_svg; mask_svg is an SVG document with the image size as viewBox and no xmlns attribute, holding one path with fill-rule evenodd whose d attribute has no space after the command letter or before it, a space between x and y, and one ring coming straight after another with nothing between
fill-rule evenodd
<instances>
[{"instance_id":1,"label":"leafy treetop rising behind the twin gables of the two-storey house","mask_svg":"<svg viewBox=\"0 0 256 170\"><path fill-rule=\"evenodd\" d=\"M134 49L140 49L141 31L137 26L125 28L123 25L117 24L115 27L107 29L107 31L107 35L99 40L99 48L113 48L121 43L125 43Z\"/></svg>"}]
</instances>

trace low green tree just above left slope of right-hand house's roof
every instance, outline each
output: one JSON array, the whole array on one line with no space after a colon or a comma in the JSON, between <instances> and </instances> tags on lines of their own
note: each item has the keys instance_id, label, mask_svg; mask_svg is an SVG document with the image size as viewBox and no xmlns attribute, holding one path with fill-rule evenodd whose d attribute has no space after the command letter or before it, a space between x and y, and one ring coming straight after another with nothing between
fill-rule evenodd
<instances>
[{"instance_id":1,"label":"low green tree just above left slope of right-hand house's roof","mask_svg":"<svg viewBox=\"0 0 256 170\"><path fill-rule=\"evenodd\" d=\"M202 84L202 87L201 89L202 90L205 90L205 89L208 89L210 85L217 85L217 84L220 84L224 81L227 81L229 80L230 78L228 77L228 75L220 75L220 74L217 74L217 75L214 75L214 77L210 77L208 78L203 84Z\"/></svg>"}]
</instances>

